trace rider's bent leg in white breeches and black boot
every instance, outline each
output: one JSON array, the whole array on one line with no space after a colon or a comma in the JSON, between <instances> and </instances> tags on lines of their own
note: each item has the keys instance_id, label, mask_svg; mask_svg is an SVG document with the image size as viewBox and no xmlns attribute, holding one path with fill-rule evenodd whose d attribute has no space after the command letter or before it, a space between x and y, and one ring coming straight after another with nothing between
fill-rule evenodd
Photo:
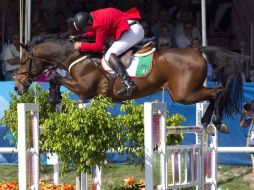
<instances>
[{"instance_id":1,"label":"rider's bent leg in white breeches and black boot","mask_svg":"<svg viewBox=\"0 0 254 190\"><path fill-rule=\"evenodd\" d=\"M131 21L130 21L131 22ZM119 40L115 41L105 54L105 60L122 80L122 89L118 94L130 93L135 88L134 83L128 77L125 67L118 58L119 55L140 42L144 37L144 30L139 23L132 24L130 29L125 31Z\"/></svg>"}]
</instances>

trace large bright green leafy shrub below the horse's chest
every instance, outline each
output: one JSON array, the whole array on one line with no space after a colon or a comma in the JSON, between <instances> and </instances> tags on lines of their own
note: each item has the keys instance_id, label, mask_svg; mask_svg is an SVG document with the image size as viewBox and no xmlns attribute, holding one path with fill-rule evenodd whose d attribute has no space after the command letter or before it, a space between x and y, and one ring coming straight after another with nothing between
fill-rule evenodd
<instances>
[{"instance_id":1,"label":"large bright green leafy shrub below the horse's chest","mask_svg":"<svg viewBox=\"0 0 254 190\"><path fill-rule=\"evenodd\" d=\"M59 155L62 171L71 163L77 172L90 173L91 166L103 165L108 150L121 146L121 122L107 111L113 106L109 98L96 97L83 109L67 99L63 105L62 113L45 120L41 146Z\"/></svg>"}]
</instances>

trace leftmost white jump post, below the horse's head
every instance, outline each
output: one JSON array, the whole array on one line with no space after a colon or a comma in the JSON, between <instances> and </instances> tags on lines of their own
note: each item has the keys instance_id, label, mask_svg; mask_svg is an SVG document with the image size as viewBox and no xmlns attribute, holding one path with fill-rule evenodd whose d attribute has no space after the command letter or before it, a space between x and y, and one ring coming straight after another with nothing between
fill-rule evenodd
<instances>
[{"instance_id":1,"label":"leftmost white jump post, below the horse's head","mask_svg":"<svg viewBox=\"0 0 254 190\"><path fill-rule=\"evenodd\" d=\"M29 150L26 142L27 117L30 111L33 116L32 142ZM18 156L19 156L19 189L26 190L28 186L32 190L39 190L39 106L33 103L18 104ZM29 157L29 159L27 159ZM29 160L30 162L27 162ZM29 166L29 167L28 167ZM29 172L27 172L29 168ZM29 174L29 178L27 176Z\"/></svg>"}]
</instances>

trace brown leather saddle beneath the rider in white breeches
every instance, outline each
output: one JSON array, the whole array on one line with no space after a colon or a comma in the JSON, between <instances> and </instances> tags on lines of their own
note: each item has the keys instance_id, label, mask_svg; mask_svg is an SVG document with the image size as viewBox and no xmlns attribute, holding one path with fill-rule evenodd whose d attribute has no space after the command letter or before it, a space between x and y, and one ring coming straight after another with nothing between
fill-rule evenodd
<instances>
[{"instance_id":1,"label":"brown leather saddle beneath the rider in white breeches","mask_svg":"<svg viewBox=\"0 0 254 190\"><path fill-rule=\"evenodd\" d=\"M154 44L152 41L147 42L146 44L142 45L142 46L134 46L131 49L129 49L128 51L124 52L119 58L121 60L121 62L123 63L123 65L125 66L125 68L128 68L130 66L130 59L132 55L136 55L136 56L142 56L145 53L148 53L150 51L152 51L155 48Z\"/></svg>"}]
</instances>

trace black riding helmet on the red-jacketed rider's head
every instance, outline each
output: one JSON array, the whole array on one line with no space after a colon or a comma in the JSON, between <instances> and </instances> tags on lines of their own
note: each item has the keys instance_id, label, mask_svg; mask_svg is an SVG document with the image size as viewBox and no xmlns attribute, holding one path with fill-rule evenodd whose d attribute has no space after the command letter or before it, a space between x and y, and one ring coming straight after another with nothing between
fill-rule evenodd
<instances>
[{"instance_id":1,"label":"black riding helmet on the red-jacketed rider's head","mask_svg":"<svg viewBox=\"0 0 254 190\"><path fill-rule=\"evenodd\" d=\"M89 20L91 20L91 15L89 13L79 12L74 17L74 25L78 31L84 32Z\"/></svg>"}]
</instances>

